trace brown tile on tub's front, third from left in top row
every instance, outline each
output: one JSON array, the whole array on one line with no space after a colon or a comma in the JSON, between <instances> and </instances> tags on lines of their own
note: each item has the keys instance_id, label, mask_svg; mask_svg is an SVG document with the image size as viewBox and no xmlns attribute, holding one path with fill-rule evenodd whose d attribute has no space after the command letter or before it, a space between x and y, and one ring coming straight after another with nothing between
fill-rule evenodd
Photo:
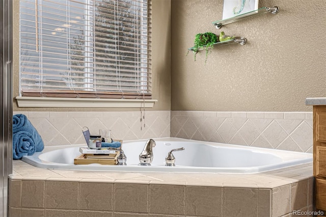
<instances>
[{"instance_id":1,"label":"brown tile on tub's front, third from left in top row","mask_svg":"<svg viewBox=\"0 0 326 217\"><path fill-rule=\"evenodd\" d=\"M46 181L45 208L78 209L78 182Z\"/></svg>"}]
</instances>

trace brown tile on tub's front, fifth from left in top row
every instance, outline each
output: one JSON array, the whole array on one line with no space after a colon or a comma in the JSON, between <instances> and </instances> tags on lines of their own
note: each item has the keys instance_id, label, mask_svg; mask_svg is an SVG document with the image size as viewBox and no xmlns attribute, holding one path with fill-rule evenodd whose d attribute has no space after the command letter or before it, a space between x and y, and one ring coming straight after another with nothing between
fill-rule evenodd
<instances>
[{"instance_id":1,"label":"brown tile on tub's front, fifth from left in top row","mask_svg":"<svg viewBox=\"0 0 326 217\"><path fill-rule=\"evenodd\" d=\"M115 183L114 211L148 212L148 184Z\"/></svg>"}]
</instances>

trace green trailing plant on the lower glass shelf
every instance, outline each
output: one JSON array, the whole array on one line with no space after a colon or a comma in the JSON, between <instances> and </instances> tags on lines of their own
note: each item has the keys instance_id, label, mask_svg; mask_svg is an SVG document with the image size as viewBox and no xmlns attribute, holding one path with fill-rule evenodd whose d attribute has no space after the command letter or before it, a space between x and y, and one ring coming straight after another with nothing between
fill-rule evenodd
<instances>
[{"instance_id":1,"label":"green trailing plant on the lower glass shelf","mask_svg":"<svg viewBox=\"0 0 326 217\"><path fill-rule=\"evenodd\" d=\"M194 40L194 47L193 47L193 51L194 51L194 60L196 61L196 56L197 56L197 52L199 49L205 49L205 64L207 61L207 57L208 57L208 53L209 48L213 47L213 44L219 42L218 36L216 36L214 33L211 32L207 32L207 33L199 33L195 36L195 40Z\"/></svg>"}]
</instances>

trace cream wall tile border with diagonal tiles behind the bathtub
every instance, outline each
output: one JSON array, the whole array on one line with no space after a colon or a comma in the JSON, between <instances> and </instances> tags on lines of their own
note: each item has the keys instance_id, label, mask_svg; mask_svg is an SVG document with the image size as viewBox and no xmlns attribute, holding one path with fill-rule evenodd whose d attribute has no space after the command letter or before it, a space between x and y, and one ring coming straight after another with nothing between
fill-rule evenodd
<instances>
[{"instance_id":1,"label":"cream wall tile border with diagonal tiles behind the bathtub","mask_svg":"<svg viewBox=\"0 0 326 217\"><path fill-rule=\"evenodd\" d=\"M26 115L46 146L85 143L82 128L112 138L177 137L312 153L312 112L14 112ZM145 124L145 127L144 127Z\"/></svg>"}]
</instances>

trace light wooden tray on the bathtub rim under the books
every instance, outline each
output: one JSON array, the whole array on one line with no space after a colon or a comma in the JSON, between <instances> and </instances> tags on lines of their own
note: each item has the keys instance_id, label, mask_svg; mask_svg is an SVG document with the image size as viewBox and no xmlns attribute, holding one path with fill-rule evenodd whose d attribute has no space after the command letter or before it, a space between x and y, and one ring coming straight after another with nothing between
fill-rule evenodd
<instances>
[{"instance_id":1,"label":"light wooden tray on the bathtub rim under the books","mask_svg":"<svg viewBox=\"0 0 326 217\"><path fill-rule=\"evenodd\" d=\"M117 165L118 154L81 154L74 158L74 165L88 165L88 164L101 164L101 165Z\"/></svg>"}]
</instances>

